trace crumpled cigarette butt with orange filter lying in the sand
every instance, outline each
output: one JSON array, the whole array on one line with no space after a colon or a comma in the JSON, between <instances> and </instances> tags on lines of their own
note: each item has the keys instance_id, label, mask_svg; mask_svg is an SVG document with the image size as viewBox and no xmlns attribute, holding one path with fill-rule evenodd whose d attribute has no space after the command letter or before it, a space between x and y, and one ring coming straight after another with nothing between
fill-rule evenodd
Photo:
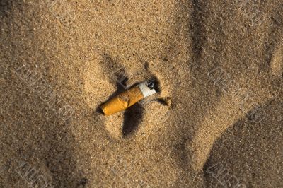
<instances>
[{"instance_id":1,"label":"crumpled cigarette butt with orange filter lying in the sand","mask_svg":"<svg viewBox=\"0 0 283 188\"><path fill-rule=\"evenodd\" d=\"M131 107L143 98L154 95L154 93L156 93L154 84L151 81L144 81L143 83L139 83L138 86L129 88L129 90L126 90L125 92L117 95L115 98L112 98L102 105L101 109L107 116L115 114L126 110L128 107Z\"/></svg>"}]
</instances>

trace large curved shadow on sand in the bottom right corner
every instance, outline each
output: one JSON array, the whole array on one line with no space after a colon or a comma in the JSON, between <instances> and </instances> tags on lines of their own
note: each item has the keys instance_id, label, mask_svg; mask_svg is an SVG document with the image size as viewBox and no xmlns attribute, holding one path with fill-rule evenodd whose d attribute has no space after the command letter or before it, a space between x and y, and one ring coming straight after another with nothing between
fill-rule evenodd
<instances>
[{"instance_id":1,"label":"large curved shadow on sand in the bottom right corner","mask_svg":"<svg viewBox=\"0 0 283 188\"><path fill-rule=\"evenodd\" d=\"M216 140L203 168L207 187L282 187L283 107L273 100L263 108L260 124L242 119Z\"/></svg>"}]
</instances>

